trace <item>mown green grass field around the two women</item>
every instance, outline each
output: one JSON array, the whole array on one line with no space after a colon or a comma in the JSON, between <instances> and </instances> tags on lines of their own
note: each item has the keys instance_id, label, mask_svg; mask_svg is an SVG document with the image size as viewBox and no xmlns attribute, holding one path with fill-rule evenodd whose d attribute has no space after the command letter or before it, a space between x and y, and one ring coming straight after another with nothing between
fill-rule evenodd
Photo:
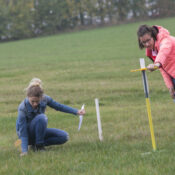
<instances>
[{"instance_id":1,"label":"mown green grass field around the two women","mask_svg":"<svg viewBox=\"0 0 175 175\"><path fill-rule=\"evenodd\" d=\"M147 73L157 144L152 152L141 74L130 72L145 57L136 37L143 23L0 44L0 175L175 174L175 104L159 71ZM175 35L175 18L146 24ZM17 108L33 77L56 101L75 108L85 103L86 116L77 132L78 117L48 108L49 127L66 130L69 142L21 158L14 147Z\"/></svg>"}]
</instances>

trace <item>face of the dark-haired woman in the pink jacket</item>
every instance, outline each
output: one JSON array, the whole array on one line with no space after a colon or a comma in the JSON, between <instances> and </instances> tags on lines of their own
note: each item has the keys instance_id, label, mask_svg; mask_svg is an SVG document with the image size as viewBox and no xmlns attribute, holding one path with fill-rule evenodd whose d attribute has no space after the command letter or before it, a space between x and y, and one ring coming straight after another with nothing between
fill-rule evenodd
<instances>
[{"instance_id":1,"label":"face of the dark-haired woman in the pink jacket","mask_svg":"<svg viewBox=\"0 0 175 175\"><path fill-rule=\"evenodd\" d=\"M154 49L154 39L151 37L149 33L146 33L142 37L140 37L140 42L143 46L147 49L153 50Z\"/></svg>"}]
</instances>

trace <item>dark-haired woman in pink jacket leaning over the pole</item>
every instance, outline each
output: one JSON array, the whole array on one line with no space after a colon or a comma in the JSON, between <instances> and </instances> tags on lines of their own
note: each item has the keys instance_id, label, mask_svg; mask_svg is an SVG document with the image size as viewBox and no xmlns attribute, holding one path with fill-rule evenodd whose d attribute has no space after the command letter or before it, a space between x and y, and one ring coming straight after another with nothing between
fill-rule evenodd
<instances>
[{"instance_id":1,"label":"dark-haired woman in pink jacket leaning over the pole","mask_svg":"<svg viewBox=\"0 0 175 175\"><path fill-rule=\"evenodd\" d=\"M159 68L170 96L175 99L175 37L161 26L141 25L137 31L140 49L146 49L146 56L153 64L147 66L154 71Z\"/></svg>"}]
</instances>

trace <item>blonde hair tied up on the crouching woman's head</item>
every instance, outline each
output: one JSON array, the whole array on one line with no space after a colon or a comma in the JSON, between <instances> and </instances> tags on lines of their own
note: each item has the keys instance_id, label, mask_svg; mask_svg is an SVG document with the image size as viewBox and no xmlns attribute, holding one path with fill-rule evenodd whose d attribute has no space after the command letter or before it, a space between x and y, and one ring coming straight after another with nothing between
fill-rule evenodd
<instances>
[{"instance_id":1,"label":"blonde hair tied up on the crouching woman's head","mask_svg":"<svg viewBox=\"0 0 175 175\"><path fill-rule=\"evenodd\" d=\"M42 98L44 94L42 81L39 78L33 78L25 90L27 97Z\"/></svg>"}]
</instances>

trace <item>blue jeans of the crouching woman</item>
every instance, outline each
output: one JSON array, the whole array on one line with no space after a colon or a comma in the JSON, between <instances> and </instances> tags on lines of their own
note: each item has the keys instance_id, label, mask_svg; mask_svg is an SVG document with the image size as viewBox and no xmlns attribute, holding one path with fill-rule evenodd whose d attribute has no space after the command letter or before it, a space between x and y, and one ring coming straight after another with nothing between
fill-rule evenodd
<instances>
[{"instance_id":1,"label":"blue jeans of the crouching woman","mask_svg":"<svg viewBox=\"0 0 175 175\"><path fill-rule=\"evenodd\" d=\"M29 145L59 145L68 141L67 132L55 128L47 128L47 117L37 115L28 125Z\"/></svg>"}]
</instances>

